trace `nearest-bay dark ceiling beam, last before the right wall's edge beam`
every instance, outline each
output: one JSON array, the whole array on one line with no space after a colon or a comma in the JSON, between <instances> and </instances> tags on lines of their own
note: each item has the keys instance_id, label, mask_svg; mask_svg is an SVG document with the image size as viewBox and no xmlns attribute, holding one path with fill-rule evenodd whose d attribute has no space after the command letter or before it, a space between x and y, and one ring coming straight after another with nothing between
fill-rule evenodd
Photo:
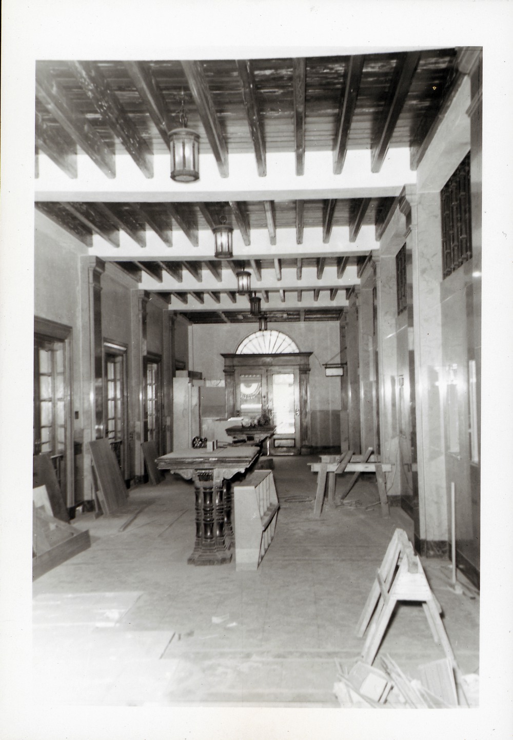
<instances>
[{"instance_id":1,"label":"nearest-bay dark ceiling beam, last before the right wall's edge beam","mask_svg":"<svg viewBox=\"0 0 513 740\"><path fill-rule=\"evenodd\" d=\"M378 124L378 135L371 147L371 171L379 172L388 151L390 139L409 93L417 70L420 52L400 52L390 82L389 94Z\"/></svg>"}]
</instances>

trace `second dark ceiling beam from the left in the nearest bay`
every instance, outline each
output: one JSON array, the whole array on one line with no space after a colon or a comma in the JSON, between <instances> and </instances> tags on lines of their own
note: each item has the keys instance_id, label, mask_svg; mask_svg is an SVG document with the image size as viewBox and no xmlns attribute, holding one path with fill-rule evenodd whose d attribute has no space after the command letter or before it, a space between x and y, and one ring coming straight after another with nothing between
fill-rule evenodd
<instances>
[{"instance_id":1,"label":"second dark ceiling beam from the left in the nearest bay","mask_svg":"<svg viewBox=\"0 0 513 740\"><path fill-rule=\"evenodd\" d=\"M115 178L115 158L64 88L39 63L36 67L36 96L107 178Z\"/></svg>"}]
</instances>

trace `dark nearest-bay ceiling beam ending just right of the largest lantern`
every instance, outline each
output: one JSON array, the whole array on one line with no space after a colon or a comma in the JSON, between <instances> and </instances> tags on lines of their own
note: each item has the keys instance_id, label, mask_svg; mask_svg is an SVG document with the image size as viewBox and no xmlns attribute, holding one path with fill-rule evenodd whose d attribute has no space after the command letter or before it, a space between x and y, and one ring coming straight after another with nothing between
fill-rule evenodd
<instances>
[{"instance_id":1,"label":"dark nearest-bay ceiling beam ending just right of the largest lantern","mask_svg":"<svg viewBox=\"0 0 513 740\"><path fill-rule=\"evenodd\" d=\"M209 90L201 63L199 61L182 61L187 84L192 92L195 106L198 109L201 123L205 129L210 148L218 163L219 174L228 177L228 149L223 131L215 113L214 101Z\"/></svg>"}]
</instances>

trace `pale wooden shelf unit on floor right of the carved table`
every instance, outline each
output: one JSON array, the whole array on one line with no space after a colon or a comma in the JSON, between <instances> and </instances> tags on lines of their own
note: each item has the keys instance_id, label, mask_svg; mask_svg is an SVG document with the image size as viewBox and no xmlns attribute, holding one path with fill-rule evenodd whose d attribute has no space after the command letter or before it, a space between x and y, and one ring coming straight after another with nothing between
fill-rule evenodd
<instances>
[{"instance_id":1,"label":"pale wooden shelf unit on floor right of the carved table","mask_svg":"<svg viewBox=\"0 0 513 740\"><path fill-rule=\"evenodd\" d=\"M235 570L256 571L275 534L278 495L271 471L261 470L233 486Z\"/></svg>"}]
</instances>

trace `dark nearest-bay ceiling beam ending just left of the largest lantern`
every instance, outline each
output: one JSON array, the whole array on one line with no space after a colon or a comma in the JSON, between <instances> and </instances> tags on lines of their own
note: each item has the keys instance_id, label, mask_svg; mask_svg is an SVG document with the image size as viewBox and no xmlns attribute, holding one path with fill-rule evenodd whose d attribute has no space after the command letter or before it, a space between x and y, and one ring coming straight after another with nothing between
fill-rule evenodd
<instances>
[{"instance_id":1,"label":"dark nearest-bay ceiling beam ending just left of the largest lantern","mask_svg":"<svg viewBox=\"0 0 513 740\"><path fill-rule=\"evenodd\" d=\"M101 117L118 137L144 177L153 177L153 158L150 147L135 128L132 119L124 110L115 92L110 89L100 68L93 61L70 61L70 69L76 75L84 92L93 102Z\"/></svg>"}]
</instances>

